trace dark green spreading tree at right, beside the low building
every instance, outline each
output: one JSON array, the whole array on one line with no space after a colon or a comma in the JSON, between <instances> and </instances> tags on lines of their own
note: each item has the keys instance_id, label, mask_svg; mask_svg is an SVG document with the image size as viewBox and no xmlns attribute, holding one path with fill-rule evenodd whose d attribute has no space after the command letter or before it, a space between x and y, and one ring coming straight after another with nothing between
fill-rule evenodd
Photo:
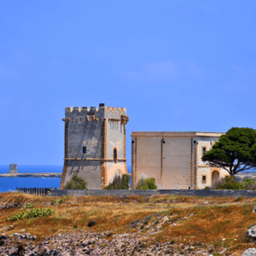
<instances>
[{"instance_id":1,"label":"dark green spreading tree at right, beside the low building","mask_svg":"<svg viewBox=\"0 0 256 256\"><path fill-rule=\"evenodd\" d=\"M219 137L218 143L201 160L209 166L223 168L231 176L256 169L256 131L251 128L231 128Z\"/></svg>"}]
</instances>

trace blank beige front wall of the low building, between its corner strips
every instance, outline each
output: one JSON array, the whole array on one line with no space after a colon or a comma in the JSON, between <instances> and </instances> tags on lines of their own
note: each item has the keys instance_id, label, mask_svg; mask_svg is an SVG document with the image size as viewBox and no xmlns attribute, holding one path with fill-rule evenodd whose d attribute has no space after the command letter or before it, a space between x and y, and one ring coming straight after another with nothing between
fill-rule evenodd
<instances>
[{"instance_id":1,"label":"blank beige front wall of the low building, between its corner strips","mask_svg":"<svg viewBox=\"0 0 256 256\"><path fill-rule=\"evenodd\" d=\"M137 137L137 181L141 177L154 177L158 189L190 187L191 138Z\"/></svg>"}]
</instances>

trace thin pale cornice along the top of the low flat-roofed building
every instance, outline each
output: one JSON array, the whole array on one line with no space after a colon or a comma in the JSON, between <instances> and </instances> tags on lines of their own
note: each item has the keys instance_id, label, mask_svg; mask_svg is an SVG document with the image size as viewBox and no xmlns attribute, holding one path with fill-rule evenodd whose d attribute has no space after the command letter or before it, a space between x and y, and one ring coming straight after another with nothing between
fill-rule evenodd
<instances>
[{"instance_id":1,"label":"thin pale cornice along the top of the low flat-roofed building","mask_svg":"<svg viewBox=\"0 0 256 256\"><path fill-rule=\"evenodd\" d=\"M224 134L209 131L132 131L131 137L220 137Z\"/></svg>"}]
</instances>

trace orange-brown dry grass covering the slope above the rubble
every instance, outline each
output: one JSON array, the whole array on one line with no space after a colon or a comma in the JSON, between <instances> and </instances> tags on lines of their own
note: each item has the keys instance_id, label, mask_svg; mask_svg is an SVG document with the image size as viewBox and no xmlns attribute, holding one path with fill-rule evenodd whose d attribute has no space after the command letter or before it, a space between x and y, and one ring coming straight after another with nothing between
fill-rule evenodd
<instances>
[{"instance_id":1,"label":"orange-brown dry grass covering the slope above the rubble","mask_svg":"<svg viewBox=\"0 0 256 256\"><path fill-rule=\"evenodd\" d=\"M152 241L182 241L183 243L201 241L214 247L232 247L230 252L240 252L246 247L254 247L247 240L245 232L249 225L256 224L256 213L252 213L255 202L252 199L236 201L235 198L189 197L177 195L138 196L67 196L66 201L58 206L52 205L55 197L2 193L0 204L18 202L20 205L32 203L35 207L53 208L55 214L47 218L21 219L5 222L10 215L26 211L18 208L0 210L0 230L14 226L6 233L13 234L26 230L33 236L43 238L55 233L76 230L96 232L111 231L115 234L137 232L131 228L135 219L153 216L176 216L177 226L163 224L160 232L148 234ZM193 216L189 217L191 213ZM186 220L183 218L189 217ZM87 227L89 220L96 220L96 225ZM143 230L146 233L146 230ZM0 234L2 231L0 231ZM225 241L222 239L225 238ZM111 237L109 238L111 239ZM236 240L235 240L236 239ZM239 254L237 254L239 255Z\"/></svg>"}]
</instances>

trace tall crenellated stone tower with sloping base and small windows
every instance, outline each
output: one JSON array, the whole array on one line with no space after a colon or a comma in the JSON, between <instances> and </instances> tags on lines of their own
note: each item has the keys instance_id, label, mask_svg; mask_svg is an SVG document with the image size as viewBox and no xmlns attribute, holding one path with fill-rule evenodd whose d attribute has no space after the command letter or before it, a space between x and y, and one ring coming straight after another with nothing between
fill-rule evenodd
<instances>
[{"instance_id":1,"label":"tall crenellated stone tower with sloping base and small windows","mask_svg":"<svg viewBox=\"0 0 256 256\"><path fill-rule=\"evenodd\" d=\"M126 108L65 108L64 189L73 174L86 179L88 189L103 189L115 175L127 173Z\"/></svg>"}]
</instances>

